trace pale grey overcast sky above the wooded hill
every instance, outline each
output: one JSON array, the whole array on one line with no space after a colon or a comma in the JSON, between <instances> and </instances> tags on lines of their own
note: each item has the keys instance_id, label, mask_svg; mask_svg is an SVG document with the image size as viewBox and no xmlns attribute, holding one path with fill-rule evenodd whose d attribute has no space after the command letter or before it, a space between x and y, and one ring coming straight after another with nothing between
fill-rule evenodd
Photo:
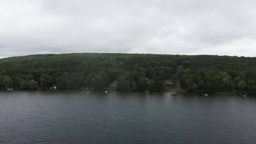
<instances>
[{"instance_id":1,"label":"pale grey overcast sky above the wooded hill","mask_svg":"<svg viewBox=\"0 0 256 144\"><path fill-rule=\"evenodd\" d=\"M0 58L120 52L256 56L256 1L0 0Z\"/></svg>"}]
</instances>

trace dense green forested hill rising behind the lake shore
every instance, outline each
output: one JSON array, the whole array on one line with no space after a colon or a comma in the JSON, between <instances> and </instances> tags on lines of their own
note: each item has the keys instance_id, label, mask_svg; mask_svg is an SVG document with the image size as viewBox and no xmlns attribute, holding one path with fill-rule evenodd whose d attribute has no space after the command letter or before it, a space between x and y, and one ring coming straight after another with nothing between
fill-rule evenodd
<instances>
[{"instance_id":1,"label":"dense green forested hill rising behind the lake shore","mask_svg":"<svg viewBox=\"0 0 256 144\"><path fill-rule=\"evenodd\" d=\"M188 91L256 93L256 57L69 53L0 59L0 87L161 91L165 80Z\"/></svg>"}]
</instances>

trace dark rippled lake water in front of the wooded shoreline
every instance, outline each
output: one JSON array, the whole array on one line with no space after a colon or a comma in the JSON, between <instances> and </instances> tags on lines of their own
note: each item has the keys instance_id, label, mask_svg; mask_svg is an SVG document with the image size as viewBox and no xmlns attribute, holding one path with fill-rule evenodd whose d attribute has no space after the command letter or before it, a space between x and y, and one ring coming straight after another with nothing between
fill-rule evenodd
<instances>
[{"instance_id":1,"label":"dark rippled lake water in front of the wooded shoreline","mask_svg":"<svg viewBox=\"0 0 256 144\"><path fill-rule=\"evenodd\" d=\"M256 143L256 98L2 91L0 143Z\"/></svg>"}]
</instances>

